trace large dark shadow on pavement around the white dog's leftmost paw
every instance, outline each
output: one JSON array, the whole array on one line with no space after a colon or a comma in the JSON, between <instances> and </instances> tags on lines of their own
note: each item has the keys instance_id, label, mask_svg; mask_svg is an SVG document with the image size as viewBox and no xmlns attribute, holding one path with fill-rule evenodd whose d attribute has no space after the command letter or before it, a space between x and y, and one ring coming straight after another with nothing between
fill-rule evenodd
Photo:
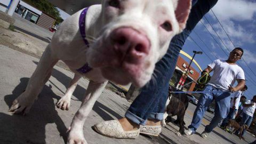
<instances>
[{"instance_id":1,"label":"large dark shadow on pavement around the white dog's leftmost paw","mask_svg":"<svg viewBox=\"0 0 256 144\"><path fill-rule=\"evenodd\" d=\"M4 101L9 107L11 107L12 101L26 89L28 80L28 77L20 78L20 84L15 87L12 94L5 95ZM49 123L55 123L60 136L66 143L67 127L55 110L53 98L57 99L58 96L51 90L51 85L45 85L42 93L38 96L38 100L31 107L29 115L10 116L0 113L1 142L4 140L7 143L46 143L45 126Z\"/></svg>"}]
</instances>

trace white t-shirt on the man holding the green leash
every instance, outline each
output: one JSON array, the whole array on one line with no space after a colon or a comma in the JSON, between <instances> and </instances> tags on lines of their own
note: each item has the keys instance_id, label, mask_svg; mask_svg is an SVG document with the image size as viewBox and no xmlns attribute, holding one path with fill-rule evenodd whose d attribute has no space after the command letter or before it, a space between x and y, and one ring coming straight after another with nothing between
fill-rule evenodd
<instances>
[{"instance_id":1,"label":"white t-shirt on the man holding the green leash","mask_svg":"<svg viewBox=\"0 0 256 144\"><path fill-rule=\"evenodd\" d=\"M226 60L214 60L210 65L213 75L208 84L217 89L227 91L228 86L233 86L236 79L245 79L244 70L238 65L230 65Z\"/></svg>"}]
</instances>

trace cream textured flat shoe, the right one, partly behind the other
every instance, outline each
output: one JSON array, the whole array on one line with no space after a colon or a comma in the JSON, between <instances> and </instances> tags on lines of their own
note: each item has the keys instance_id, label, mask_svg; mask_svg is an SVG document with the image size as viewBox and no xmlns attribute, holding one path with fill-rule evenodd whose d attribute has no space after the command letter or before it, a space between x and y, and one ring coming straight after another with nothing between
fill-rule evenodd
<instances>
[{"instance_id":1,"label":"cream textured flat shoe, the right one, partly behind the other","mask_svg":"<svg viewBox=\"0 0 256 144\"><path fill-rule=\"evenodd\" d=\"M158 136L162 131L161 125L140 125L140 133Z\"/></svg>"}]
</instances>

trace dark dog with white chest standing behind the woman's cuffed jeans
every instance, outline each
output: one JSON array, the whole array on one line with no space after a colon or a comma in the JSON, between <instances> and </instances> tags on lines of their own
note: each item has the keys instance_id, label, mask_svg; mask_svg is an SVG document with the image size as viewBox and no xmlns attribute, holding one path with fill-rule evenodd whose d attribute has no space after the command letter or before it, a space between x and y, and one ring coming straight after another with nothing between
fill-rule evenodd
<instances>
[{"instance_id":1,"label":"dark dog with white chest standing behind the woman's cuffed jeans","mask_svg":"<svg viewBox=\"0 0 256 144\"><path fill-rule=\"evenodd\" d=\"M186 93L171 93L172 87L169 87L169 96L170 98L166 102L166 112L164 114L163 125L165 126L167 123L171 122L172 116L177 116L177 120L173 123L179 124L179 132L176 134L180 136L184 134L184 115L188 108L188 97Z\"/></svg>"}]
</instances>

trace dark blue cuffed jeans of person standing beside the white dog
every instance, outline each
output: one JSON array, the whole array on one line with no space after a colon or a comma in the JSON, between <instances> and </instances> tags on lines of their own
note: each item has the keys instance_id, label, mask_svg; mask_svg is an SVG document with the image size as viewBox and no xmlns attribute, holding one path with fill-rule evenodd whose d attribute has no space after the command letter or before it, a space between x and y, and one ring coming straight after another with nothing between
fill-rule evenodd
<instances>
[{"instance_id":1,"label":"dark blue cuffed jeans of person standing beside the white dog","mask_svg":"<svg viewBox=\"0 0 256 144\"><path fill-rule=\"evenodd\" d=\"M145 125L147 119L163 119L165 103L168 96L169 81L175 69L178 56L187 37L218 0L198 0L193 4L185 30L172 38L164 57L156 63L156 79L142 87L141 93L126 111L125 117L132 122Z\"/></svg>"}]
</instances>

